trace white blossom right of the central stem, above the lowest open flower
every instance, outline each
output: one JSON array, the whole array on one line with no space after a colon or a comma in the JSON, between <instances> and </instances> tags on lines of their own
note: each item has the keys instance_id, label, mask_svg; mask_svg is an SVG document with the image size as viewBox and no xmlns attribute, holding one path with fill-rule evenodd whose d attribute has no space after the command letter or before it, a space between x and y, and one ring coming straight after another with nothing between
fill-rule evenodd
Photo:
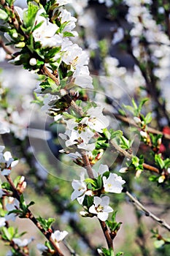
<instances>
[{"instance_id":1,"label":"white blossom right of the central stem, above the lowest open flower","mask_svg":"<svg viewBox=\"0 0 170 256\"><path fill-rule=\"evenodd\" d=\"M104 183L104 191L111 192L111 193L121 193L122 192L122 185L125 184L125 181L122 177L117 176L115 173L110 173L109 177L103 177Z\"/></svg>"}]
</instances>

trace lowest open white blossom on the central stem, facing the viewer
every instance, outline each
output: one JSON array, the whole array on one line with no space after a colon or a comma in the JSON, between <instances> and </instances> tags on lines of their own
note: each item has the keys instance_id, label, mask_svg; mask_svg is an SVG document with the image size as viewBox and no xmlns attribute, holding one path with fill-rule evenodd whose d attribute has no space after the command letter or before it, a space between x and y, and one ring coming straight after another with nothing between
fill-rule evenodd
<instances>
[{"instance_id":1,"label":"lowest open white blossom on the central stem, facing the viewer","mask_svg":"<svg viewBox=\"0 0 170 256\"><path fill-rule=\"evenodd\" d=\"M109 213L112 212L112 207L109 206L109 197L94 197L93 206L90 206L89 212L91 214L96 214L98 219L105 222Z\"/></svg>"}]
</instances>

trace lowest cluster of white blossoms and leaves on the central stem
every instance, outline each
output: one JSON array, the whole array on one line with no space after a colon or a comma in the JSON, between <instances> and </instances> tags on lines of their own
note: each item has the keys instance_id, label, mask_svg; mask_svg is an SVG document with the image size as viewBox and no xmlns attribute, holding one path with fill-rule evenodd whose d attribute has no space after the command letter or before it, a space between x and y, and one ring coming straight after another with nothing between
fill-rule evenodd
<instances>
[{"instance_id":1,"label":"lowest cluster of white blossoms and leaves on the central stem","mask_svg":"<svg viewBox=\"0 0 170 256\"><path fill-rule=\"evenodd\" d=\"M80 173L80 180L74 179L72 181L74 192L72 192L71 199L77 199L84 206L85 211L80 212L82 216L97 216L101 221L106 221L113 209L109 206L109 197L104 194L107 192L121 193L125 181L116 173L110 173L107 165L100 165L98 172L93 170L93 176L95 177L93 180L85 179L85 171L83 170ZM90 204L85 201L85 197L93 199Z\"/></svg>"}]
</instances>

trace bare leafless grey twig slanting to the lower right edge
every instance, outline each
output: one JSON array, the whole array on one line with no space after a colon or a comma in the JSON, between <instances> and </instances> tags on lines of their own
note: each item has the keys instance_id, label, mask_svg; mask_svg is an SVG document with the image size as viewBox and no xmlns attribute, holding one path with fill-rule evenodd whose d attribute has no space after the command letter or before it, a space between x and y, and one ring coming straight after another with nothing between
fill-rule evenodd
<instances>
[{"instance_id":1,"label":"bare leafless grey twig slanting to the lower right edge","mask_svg":"<svg viewBox=\"0 0 170 256\"><path fill-rule=\"evenodd\" d=\"M152 214L147 208L145 208L142 205L142 203L139 202L139 200L136 199L136 197L131 195L131 193L129 193L128 191L126 191L125 194L128 195L129 198L131 198L131 200L134 203L134 205L136 206L136 208L139 208L140 210L142 210L147 217L152 218L153 220L155 220L155 222L158 222L158 224L161 225L161 227L166 228L166 230L168 230L170 232L170 225L167 224L164 221L164 219L160 219L160 218L156 217L155 214Z\"/></svg>"}]
</instances>

